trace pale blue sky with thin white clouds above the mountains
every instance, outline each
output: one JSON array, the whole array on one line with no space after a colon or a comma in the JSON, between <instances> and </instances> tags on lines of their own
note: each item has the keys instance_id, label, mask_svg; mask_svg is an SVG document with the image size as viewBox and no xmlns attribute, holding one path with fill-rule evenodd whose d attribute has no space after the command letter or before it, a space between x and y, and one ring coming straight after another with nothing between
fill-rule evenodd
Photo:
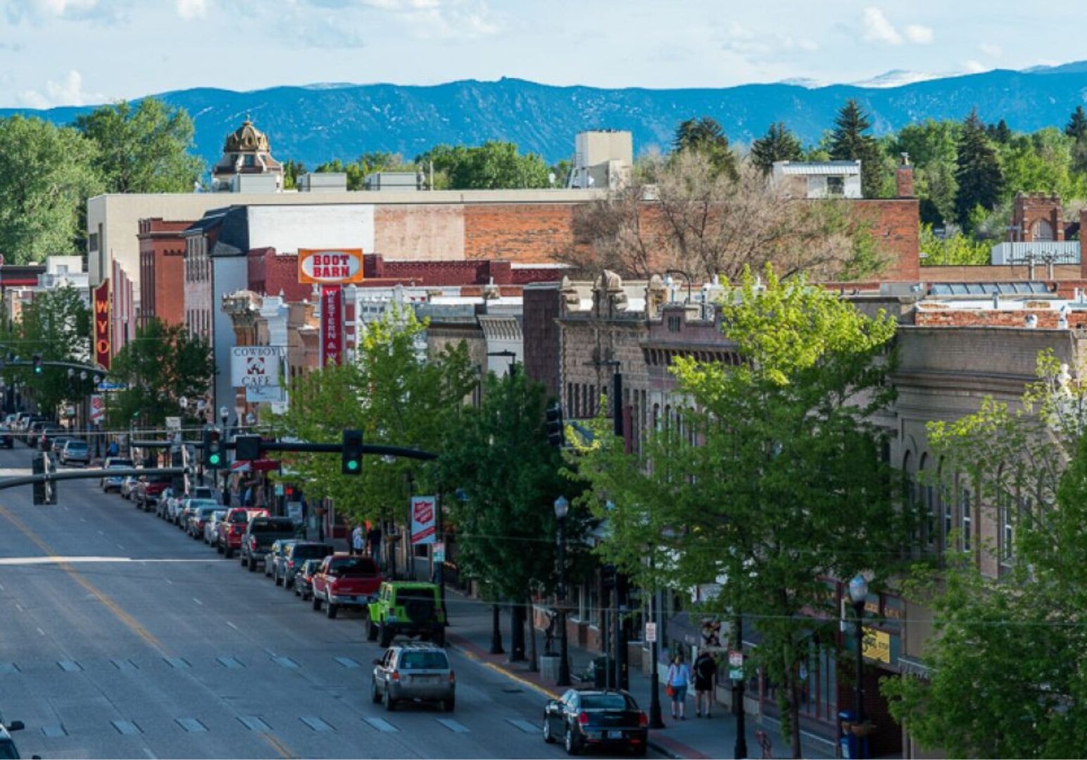
<instances>
[{"instance_id":1,"label":"pale blue sky with thin white clouds above the mountains","mask_svg":"<svg viewBox=\"0 0 1087 760\"><path fill-rule=\"evenodd\" d=\"M0 105L187 87L723 87L1087 58L1079 3L1008 0L0 0Z\"/></svg>"}]
</instances>

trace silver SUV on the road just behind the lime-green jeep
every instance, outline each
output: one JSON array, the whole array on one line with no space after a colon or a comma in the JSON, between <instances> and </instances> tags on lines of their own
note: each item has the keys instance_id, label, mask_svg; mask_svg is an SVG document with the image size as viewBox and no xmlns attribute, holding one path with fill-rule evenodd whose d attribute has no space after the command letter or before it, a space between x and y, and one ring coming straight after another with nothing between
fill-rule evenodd
<instances>
[{"instance_id":1,"label":"silver SUV on the road just behind the lime-green jeep","mask_svg":"<svg viewBox=\"0 0 1087 760\"><path fill-rule=\"evenodd\" d=\"M446 650L434 644L398 644L374 660L370 698L396 710L399 702L440 702L446 712L457 705L457 674Z\"/></svg>"}]
</instances>

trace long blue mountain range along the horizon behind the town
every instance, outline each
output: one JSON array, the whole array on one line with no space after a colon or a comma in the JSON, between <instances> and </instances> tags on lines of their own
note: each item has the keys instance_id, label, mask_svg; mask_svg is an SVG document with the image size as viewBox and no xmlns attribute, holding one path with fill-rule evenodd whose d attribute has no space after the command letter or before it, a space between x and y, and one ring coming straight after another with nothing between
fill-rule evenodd
<instances>
[{"instance_id":1,"label":"long blue mountain range along the horizon behind the town","mask_svg":"<svg viewBox=\"0 0 1087 760\"><path fill-rule=\"evenodd\" d=\"M1076 105L1087 101L1087 61L1022 72L925 76L888 72L864 83L867 86L813 87L803 82L682 89L555 87L502 78L433 86L322 84L247 92L201 87L155 97L191 114L197 151L209 163L248 114L268 135L276 158L310 167L365 151L393 151L410 159L441 142L478 145L492 139L513 141L553 162L572 157L574 135L583 129L629 129L637 153L666 147L680 121L703 115L716 119L734 142L750 142L776 121L814 142L849 98L869 111L877 135L925 119L963 119L973 108L987 122L1004 119L1013 129L1034 130L1063 126ZM908 84L895 86L899 82ZM92 108L0 109L0 116L34 114L66 124Z\"/></svg>"}]
</instances>

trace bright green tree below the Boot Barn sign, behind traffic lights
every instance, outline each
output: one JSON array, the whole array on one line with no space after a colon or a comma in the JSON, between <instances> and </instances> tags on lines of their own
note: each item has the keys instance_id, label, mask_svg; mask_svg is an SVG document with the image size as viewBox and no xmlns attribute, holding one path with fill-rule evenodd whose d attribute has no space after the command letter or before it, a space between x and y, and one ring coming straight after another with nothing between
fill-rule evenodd
<instances>
[{"instance_id":1,"label":"bright green tree below the Boot Barn sign, behind traffic lights","mask_svg":"<svg viewBox=\"0 0 1087 760\"><path fill-rule=\"evenodd\" d=\"M279 435L309 441L339 440L345 428L367 444L438 451L455 426L474 382L462 342L429 360L417 341L426 323L411 310L393 310L366 325L355 361L300 375L290 384L291 403L272 418ZM416 460L368 459L359 476L340 475L328 454L292 454L286 461L313 497L332 497L336 509L362 521L402 522L409 491L436 493L434 465ZM293 476L292 476L293 477Z\"/></svg>"}]
</instances>

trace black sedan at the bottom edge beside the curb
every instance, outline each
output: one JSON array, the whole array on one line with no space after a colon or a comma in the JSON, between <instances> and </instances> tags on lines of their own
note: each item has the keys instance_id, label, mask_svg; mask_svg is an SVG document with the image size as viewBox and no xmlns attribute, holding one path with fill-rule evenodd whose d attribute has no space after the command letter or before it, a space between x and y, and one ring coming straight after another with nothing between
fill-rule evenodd
<instances>
[{"instance_id":1,"label":"black sedan at the bottom edge beside the curb","mask_svg":"<svg viewBox=\"0 0 1087 760\"><path fill-rule=\"evenodd\" d=\"M565 745L567 755L589 747L648 749L649 718L626 692L570 689L544 708L544 740Z\"/></svg>"}]
</instances>

